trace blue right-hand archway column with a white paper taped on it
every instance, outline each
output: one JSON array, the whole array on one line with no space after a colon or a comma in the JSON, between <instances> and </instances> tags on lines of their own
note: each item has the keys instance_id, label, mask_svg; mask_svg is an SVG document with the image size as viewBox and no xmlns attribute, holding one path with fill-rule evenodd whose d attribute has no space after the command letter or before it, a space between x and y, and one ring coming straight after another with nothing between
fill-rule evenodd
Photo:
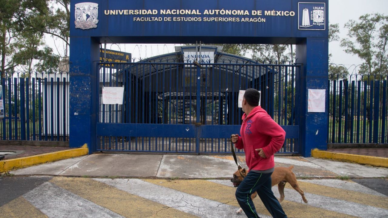
<instances>
[{"instance_id":1,"label":"blue right-hand archway column with a white paper taped on it","mask_svg":"<svg viewBox=\"0 0 388 218\"><path fill-rule=\"evenodd\" d=\"M297 85L300 88L299 146L300 154L311 156L312 149L327 150L327 109L307 112L308 89L327 90L329 42L327 38L307 38L296 45L296 62L302 63ZM322 102L327 102L327 98Z\"/></svg>"}]
</instances>

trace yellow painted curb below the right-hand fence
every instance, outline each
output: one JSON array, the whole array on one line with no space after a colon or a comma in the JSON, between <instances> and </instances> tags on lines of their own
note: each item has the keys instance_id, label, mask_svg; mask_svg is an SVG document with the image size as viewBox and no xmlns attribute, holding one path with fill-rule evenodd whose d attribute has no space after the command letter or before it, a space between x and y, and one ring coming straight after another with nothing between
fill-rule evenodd
<instances>
[{"instance_id":1,"label":"yellow painted curb below the right-hand fence","mask_svg":"<svg viewBox=\"0 0 388 218\"><path fill-rule=\"evenodd\" d=\"M388 167L388 158L385 157L372 157L357 154L344 154L329 151L312 150L311 156L323 159L332 159L336 161L345 161L351 163L368 164L372 166Z\"/></svg>"}]
</instances>

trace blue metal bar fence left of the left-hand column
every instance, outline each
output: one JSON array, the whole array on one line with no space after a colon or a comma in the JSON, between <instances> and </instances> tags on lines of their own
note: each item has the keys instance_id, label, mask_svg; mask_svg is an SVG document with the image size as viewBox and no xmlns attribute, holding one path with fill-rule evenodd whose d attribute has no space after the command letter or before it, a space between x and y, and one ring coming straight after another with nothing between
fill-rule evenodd
<instances>
[{"instance_id":1,"label":"blue metal bar fence left of the left-hand column","mask_svg":"<svg viewBox=\"0 0 388 218\"><path fill-rule=\"evenodd\" d=\"M67 73L6 72L0 140L69 140Z\"/></svg>"}]
</instances>

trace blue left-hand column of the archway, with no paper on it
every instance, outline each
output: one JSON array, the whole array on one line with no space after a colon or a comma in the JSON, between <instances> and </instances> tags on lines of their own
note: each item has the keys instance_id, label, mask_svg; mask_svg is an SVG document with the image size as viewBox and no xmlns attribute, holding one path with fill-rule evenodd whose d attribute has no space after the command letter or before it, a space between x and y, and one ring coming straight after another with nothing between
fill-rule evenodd
<instances>
[{"instance_id":1,"label":"blue left-hand column of the archway, with no paper on it","mask_svg":"<svg viewBox=\"0 0 388 218\"><path fill-rule=\"evenodd\" d=\"M90 37L71 37L69 86L69 144L88 145L89 154L96 146L96 62L99 43Z\"/></svg>"}]
</instances>

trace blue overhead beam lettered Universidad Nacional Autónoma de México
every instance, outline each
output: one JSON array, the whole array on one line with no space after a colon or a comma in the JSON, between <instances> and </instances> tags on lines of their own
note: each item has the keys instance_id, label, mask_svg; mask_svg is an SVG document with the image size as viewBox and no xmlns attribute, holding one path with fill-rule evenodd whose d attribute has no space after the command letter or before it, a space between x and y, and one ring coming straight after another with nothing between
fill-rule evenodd
<instances>
[{"instance_id":1,"label":"blue overhead beam lettered Universidad Nacional Aut\u00f3noma de M\u00e9xico","mask_svg":"<svg viewBox=\"0 0 388 218\"><path fill-rule=\"evenodd\" d=\"M324 1L74 2L77 3L71 16L75 24L71 26L73 36L104 35L116 43L124 36L145 37L144 41L151 36L275 37L271 41L284 43L284 37L328 35L327 3ZM283 39L278 40L280 37ZM170 40L180 43L176 38Z\"/></svg>"}]
</instances>

